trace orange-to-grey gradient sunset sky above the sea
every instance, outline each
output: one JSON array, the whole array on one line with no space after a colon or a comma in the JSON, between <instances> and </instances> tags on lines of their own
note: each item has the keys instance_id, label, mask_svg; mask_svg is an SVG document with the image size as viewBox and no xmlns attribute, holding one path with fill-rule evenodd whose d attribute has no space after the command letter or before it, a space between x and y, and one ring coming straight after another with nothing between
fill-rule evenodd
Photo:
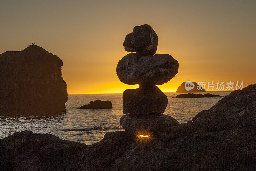
<instances>
[{"instance_id":1,"label":"orange-to-grey gradient sunset sky above the sea","mask_svg":"<svg viewBox=\"0 0 256 171\"><path fill-rule=\"evenodd\" d=\"M125 35L149 24L156 53L179 61L163 92L184 81L256 83L256 1L0 1L0 53L35 42L62 59L68 94L122 93Z\"/></svg>"}]
</instances>

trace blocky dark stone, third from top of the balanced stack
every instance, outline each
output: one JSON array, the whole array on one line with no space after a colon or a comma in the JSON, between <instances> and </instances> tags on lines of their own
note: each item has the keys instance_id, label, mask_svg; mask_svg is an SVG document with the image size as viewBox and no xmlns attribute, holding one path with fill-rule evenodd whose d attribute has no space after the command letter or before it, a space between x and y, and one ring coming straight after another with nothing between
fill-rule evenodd
<instances>
[{"instance_id":1,"label":"blocky dark stone, third from top of the balanced stack","mask_svg":"<svg viewBox=\"0 0 256 171\"><path fill-rule=\"evenodd\" d=\"M168 104L166 95L155 85L140 85L123 93L124 114L164 113Z\"/></svg>"}]
</instances>

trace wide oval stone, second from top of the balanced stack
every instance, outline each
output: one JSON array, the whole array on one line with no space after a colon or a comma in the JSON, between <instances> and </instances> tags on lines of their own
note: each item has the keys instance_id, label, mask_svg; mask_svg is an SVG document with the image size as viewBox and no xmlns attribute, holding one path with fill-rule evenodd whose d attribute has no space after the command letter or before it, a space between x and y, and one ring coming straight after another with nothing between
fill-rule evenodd
<instances>
[{"instance_id":1,"label":"wide oval stone, second from top of the balanced stack","mask_svg":"<svg viewBox=\"0 0 256 171\"><path fill-rule=\"evenodd\" d=\"M178 69L178 61L169 54L141 56L129 53L118 62L116 74L124 84L161 85L170 81Z\"/></svg>"}]
</instances>

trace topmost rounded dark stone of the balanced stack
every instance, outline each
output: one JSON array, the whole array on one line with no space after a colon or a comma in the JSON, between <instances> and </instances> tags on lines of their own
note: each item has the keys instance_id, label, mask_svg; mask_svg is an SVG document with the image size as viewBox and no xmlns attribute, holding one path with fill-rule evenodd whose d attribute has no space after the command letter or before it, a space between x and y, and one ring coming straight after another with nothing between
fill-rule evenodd
<instances>
[{"instance_id":1,"label":"topmost rounded dark stone of the balanced stack","mask_svg":"<svg viewBox=\"0 0 256 171\"><path fill-rule=\"evenodd\" d=\"M148 24L135 26L124 40L124 50L140 55L154 55L158 44L156 32Z\"/></svg>"}]
</instances>

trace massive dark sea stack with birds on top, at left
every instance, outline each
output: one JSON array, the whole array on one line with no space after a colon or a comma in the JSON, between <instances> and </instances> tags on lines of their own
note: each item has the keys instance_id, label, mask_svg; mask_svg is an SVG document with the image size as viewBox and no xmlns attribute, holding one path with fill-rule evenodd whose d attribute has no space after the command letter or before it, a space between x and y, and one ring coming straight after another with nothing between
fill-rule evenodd
<instances>
[{"instance_id":1,"label":"massive dark sea stack with birds on top, at left","mask_svg":"<svg viewBox=\"0 0 256 171\"><path fill-rule=\"evenodd\" d=\"M61 59L37 45L0 55L0 115L56 114L68 100Z\"/></svg>"}]
</instances>

